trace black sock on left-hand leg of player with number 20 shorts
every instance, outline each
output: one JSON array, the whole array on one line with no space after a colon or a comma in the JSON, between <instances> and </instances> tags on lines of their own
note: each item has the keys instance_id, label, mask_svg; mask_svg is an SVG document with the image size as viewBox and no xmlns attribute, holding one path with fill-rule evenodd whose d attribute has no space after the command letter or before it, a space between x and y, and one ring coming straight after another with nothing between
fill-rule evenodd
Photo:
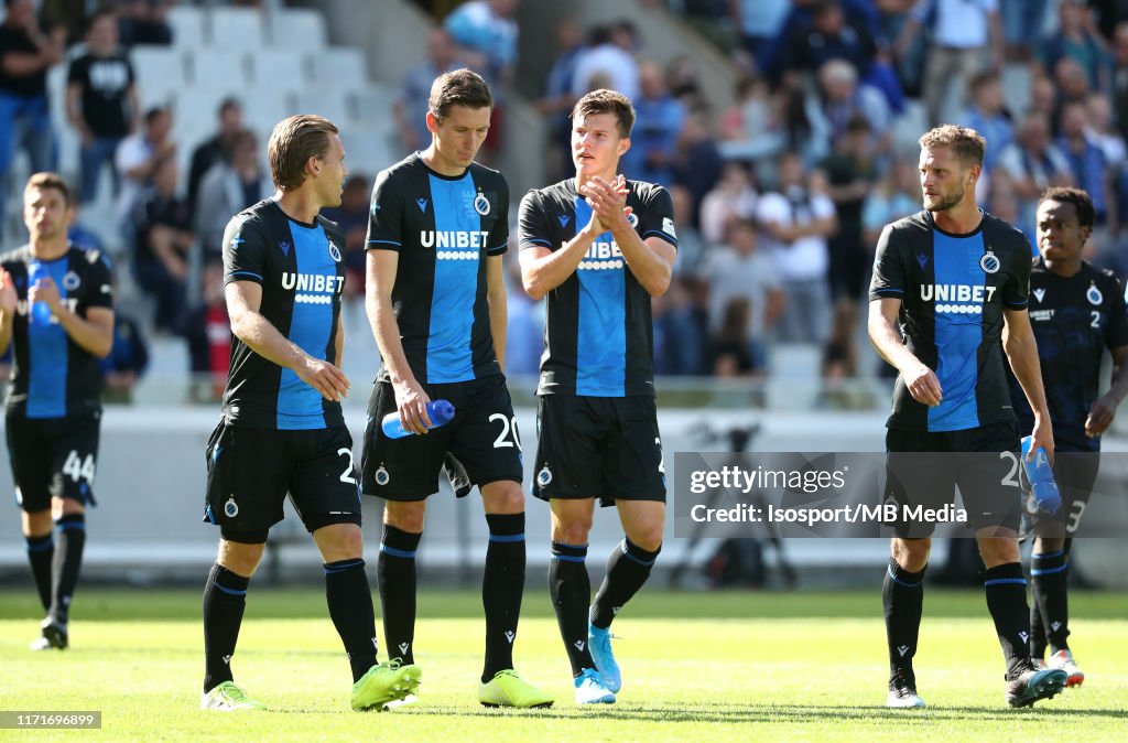
<instances>
[{"instance_id":1,"label":"black sock on left-hand leg of player with number 20 shorts","mask_svg":"<svg viewBox=\"0 0 1128 743\"><path fill-rule=\"evenodd\" d=\"M384 525L376 575L388 657L415 663L415 552L423 534Z\"/></svg>"}]
</instances>

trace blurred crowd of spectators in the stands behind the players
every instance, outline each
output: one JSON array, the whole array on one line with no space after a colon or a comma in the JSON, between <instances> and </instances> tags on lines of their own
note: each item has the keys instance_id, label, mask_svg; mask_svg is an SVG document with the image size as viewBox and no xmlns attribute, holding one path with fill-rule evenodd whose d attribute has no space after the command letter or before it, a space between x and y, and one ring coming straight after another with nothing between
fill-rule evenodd
<instances>
[{"instance_id":1,"label":"blurred crowd of spectators in the stands behind the players","mask_svg":"<svg viewBox=\"0 0 1128 743\"><path fill-rule=\"evenodd\" d=\"M265 142L238 99L214 112L212 136L177 142L169 108L138 106L133 44L168 44L171 0L6 0L0 24L0 176L16 152L58 163L47 73L67 69L65 122L78 134L80 203L115 193L117 276L147 297L127 334L183 336L191 370L221 381L228 332L217 268L227 219L272 193ZM231 2L249 5L258 2ZM424 6L426 3L423 3ZM430 141L420 112L431 81L468 65L497 90L483 159L504 142L519 60L518 0L447 3L397 85L391 115L404 154ZM545 117L549 181L573 172L569 113L611 87L634 100L631 178L660 183L675 203L676 280L655 300L663 375L772 373L781 343L818 349L821 374L860 368L860 320L883 225L920 208L916 139L938 123L987 138L977 195L1031 235L1038 195L1086 189L1099 227L1089 257L1128 269L1128 6L1113 0L646 0L726 55L735 85L710 99L688 54L660 64L635 24L555 25L554 62L535 102ZM95 10L89 10L96 6ZM668 59L668 55L662 55ZM206 115L191 112L192 115ZM185 115L182 113L182 115ZM177 158L191 147L191 159ZM190 163L180 173L177 163ZM108 177L107 175L108 174ZM363 294L373 174L355 174L327 216L349 236L350 312ZM11 183L0 189L11 194ZM513 194L514 200L520 194ZM10 199L9 199L10 201ZM15 210L7 204L8 216ZM15 210L18 211L18 210ZM0 217L5 204L0 201ZM0 224L3 224L0 219ZM74 226L77 244L98 235ZM7 246L11 247L11 245ZM515 246L514 246L515 247ZM509 261L517 276L515 250ZM541 309L511 280L509 369L535 374ZM121 355L140 368L143 355ZM863 365L864 366L864 365ZM219 382L201 395L214 394Z\"/></svg>"}]
</instances>

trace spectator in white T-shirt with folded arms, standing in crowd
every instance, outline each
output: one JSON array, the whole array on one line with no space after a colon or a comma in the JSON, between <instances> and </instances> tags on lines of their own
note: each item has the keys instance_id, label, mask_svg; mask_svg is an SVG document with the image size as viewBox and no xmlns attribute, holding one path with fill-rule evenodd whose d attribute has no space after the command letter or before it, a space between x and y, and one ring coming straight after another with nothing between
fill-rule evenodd
<instances>
[{"instance_id":1,"label":"spectator in white T-shirt with folded arms, standing in crowd","mask_svg":"<svg viewBox=\"0 0 1128 743\"><path fill-rule=\"evenodd\" d=\"M777 191L760 196L756 218L786 297L778 335L821 344L830 326L827 238L838 229L835 204L825 178L809 177L797 152L781 156L776 175Z\"/></svg>"}]
</instances>

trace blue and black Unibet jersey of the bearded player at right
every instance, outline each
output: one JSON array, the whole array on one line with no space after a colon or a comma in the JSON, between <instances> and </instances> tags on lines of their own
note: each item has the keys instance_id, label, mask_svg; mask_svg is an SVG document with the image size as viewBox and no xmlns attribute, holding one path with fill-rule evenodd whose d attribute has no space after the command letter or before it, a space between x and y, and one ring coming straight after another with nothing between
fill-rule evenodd
<instances>
[{"instance_id":1,"label":"blue and black Unibet jersey of the bearded player at right","mask_svg":"<svg viewBox=\"0 0 1128 743\"><path fill-rule=\"evenodd\" d=\"M988 213L967 235L945 233L928 211L885 226L870 298L901 300L905 344L943 391L941 404L929 408L898 376L889 428L955 431L1014 420L1003 311L1024 311L1029 285L1030 241Z\"/></svg>"}]
</instances>

